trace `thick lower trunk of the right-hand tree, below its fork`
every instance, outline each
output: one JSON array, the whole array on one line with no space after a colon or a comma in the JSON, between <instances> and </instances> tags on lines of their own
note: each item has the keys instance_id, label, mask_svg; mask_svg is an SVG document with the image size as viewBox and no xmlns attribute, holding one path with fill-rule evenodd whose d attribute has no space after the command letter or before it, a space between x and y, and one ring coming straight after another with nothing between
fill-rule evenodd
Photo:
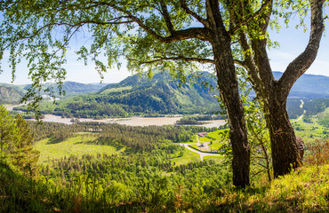
<instances>
[{"instance_id":1,"label":"thick lower trunk of the right-hand tree, below its fork","mask_svg":"<svg viewBox=\"0 0 329 213\"><path fill-rule=\"evenodd\" d=\"M288 174L301 166L301 155L296 143L293 126L286 111L286 99L271 99L265 106L269 127L274 177Z\"/></svg>"}]
</instances>

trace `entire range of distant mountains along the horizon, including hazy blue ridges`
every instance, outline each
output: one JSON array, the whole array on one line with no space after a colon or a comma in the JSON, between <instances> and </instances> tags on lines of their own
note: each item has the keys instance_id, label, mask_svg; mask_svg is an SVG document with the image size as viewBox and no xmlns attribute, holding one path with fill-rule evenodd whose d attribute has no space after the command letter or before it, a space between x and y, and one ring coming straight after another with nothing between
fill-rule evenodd
<instances>
[{"instance_id":1,"label":"entire range of distant mountains along the horizon, including hazy blue ridges","mask_svg":"<svg viewBox=\"0 0 329 213\"><path fill-rule=\"evenodd\" d=\"M282 73L273 72L278 79ZM216 85L215 79L204 72L196 83L179 87L179 82L168 73L155 72L152 79L146 74L132 75L120 83L65 82L67 98L59 101L57 114L77 116L127 116L129 114L194 114L213 113L219 110L215 91L207 91L201 83ZM0 83L0 104L17 104L30 85ZM50 83L44 88L56 87ZM88 93L88 94L86 94ZM86 95L82 95L86 94ZM71 97L76 96L76 97ZM69 98L71 97L71 98ZM329 98L329 77L302 75L294 83L290 98ZM99 111L98 113L94 111ZM87 114L83 115L88 111ZM49 112L48 112L49 113Z\"/></svg>"}]
</instances>

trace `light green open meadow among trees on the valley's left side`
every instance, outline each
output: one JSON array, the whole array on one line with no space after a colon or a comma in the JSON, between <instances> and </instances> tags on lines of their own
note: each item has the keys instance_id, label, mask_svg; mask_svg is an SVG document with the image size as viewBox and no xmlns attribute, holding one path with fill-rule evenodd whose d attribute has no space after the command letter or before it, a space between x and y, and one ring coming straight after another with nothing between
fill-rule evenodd
<instances>
[{"instance_id":1,"label":"light green open meadow among trees on the valley's left side","mask_svg":"<svg viewBox=\"0 0 329 213\"><path fill-rule=\"evenodd\" d=\"M39 163L60 159L72 154L76 156L83 154L117 154L124 150L117 151L113 146L92 144L95 139L97 139L96 134L76 134L60 143L52 143L49 138L40 140L35 145L36 150L40 151Z\"/></svg>"}]
</instances>

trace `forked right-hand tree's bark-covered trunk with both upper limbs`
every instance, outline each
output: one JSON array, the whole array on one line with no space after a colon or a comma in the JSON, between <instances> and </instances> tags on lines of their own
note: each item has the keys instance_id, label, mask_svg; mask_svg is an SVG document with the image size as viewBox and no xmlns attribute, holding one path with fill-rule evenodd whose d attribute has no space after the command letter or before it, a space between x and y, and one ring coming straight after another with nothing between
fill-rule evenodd
<instances>
[{"instance_id":1,"label":"forked right-hand tree's bark-covered trunk with both upper limbs","mask_svg":"<svg viewBox=\"0 0 329 213\"><path fill-rule=\"evenodd\" d=\"M305 51L294 59L285 69L284 75L276 81L272 75L269 58L266 51L267 40L250 36L248 32L257 32L265 35L269 26L271 10L264 11L257 23L247 24L247 30L241 30L239 42L245 52L245 61L240 64L249 73L253 89L258 98L262 99L265 108L265 117L269 128L272 149L272 162L274 176L288 174L292 168L301 166L302 152L293 131L292 124L286 111L286 99L293 83L303 75L317 57L317 50L324 31L323 4L325 0L310 0L311 28L309 43ZM269 4L272 6L272 4ZM238 16L237 16L238 17ZM256 28L255 28L256 26ZM248 41L249 40L249 41Z\"/></svg>"}]
</instances>

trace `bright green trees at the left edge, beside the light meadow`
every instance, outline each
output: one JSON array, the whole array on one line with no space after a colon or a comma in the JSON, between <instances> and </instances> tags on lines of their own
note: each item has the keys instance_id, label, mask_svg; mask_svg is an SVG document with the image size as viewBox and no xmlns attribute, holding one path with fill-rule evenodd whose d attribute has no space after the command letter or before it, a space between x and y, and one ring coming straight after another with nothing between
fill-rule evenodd
<instances>
[{"instance_id":1,"label":"bright green trees at the left edge, beside the light meadow","mask_svg":"<svg viewBox=\"0 0 329 213\"><path fill-rule=\"evenodd\" d=\"M1 162L10 164L15 170L32 177L36 173L39 152L33 149L34 134L28 122L17 114L13 118L4 106L0 106Z\"/></svg>"}]
</instances>

